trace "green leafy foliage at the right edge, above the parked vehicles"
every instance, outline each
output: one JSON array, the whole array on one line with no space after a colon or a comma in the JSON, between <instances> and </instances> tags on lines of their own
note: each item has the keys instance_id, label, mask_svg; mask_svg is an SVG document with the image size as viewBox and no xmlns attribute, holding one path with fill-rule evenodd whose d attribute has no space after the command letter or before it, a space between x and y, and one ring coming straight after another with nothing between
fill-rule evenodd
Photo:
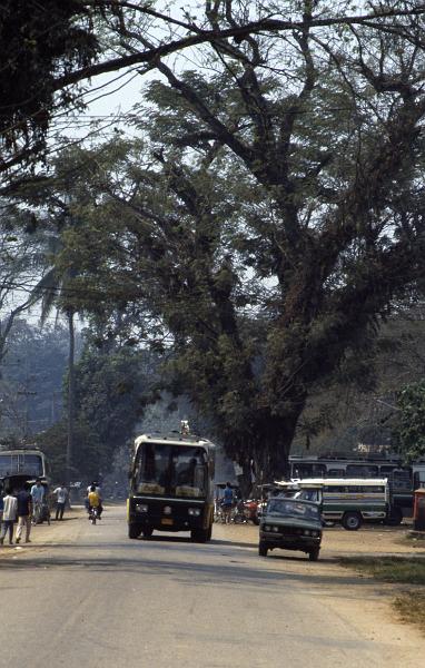
<instances>
[{"instance_id":1,"label":"green leafy foliage at the right edge, above the parked vehicles","mask_svg":"<svg viewBox=\"0 0 425 668\"><path fill-rule=\"evenodd\" d=\"M398 450L406 461L413 461L425 455L425 380L403 387L397 405Z\"/></svg>"}]
</instances>

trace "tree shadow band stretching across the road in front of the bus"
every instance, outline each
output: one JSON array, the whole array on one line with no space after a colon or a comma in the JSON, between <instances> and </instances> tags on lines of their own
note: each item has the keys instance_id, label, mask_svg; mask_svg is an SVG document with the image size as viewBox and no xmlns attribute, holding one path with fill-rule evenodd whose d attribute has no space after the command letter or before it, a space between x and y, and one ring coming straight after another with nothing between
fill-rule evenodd
<instances>
[{"instance_id":1,"label":"tree shadow band stretching across the road in front of the bus","mask_svg":"<svg viewBox=\"0 0 425 668\"><path fill-rule=\"evenodd\" d=\"M160 537L162 538L162 537ZM167 538L167 537L164 537ZM185 539L180 539L181 542ZM146 541L146 543L149 541ZM167 543L167 540L159 541ZM189 541L188 541L189 542ZM144 552L144 541L131 541L128 549L117 546L119 549L110 550L109 553L99 556L98 546L72 544L67 546L67 550L60 549L65 546L58 546L58 550L49 553L39 552L24 558L12 557L11 553L2 554L0 559L0 572L7 577L19 578L20 572L39 573L40 577L49 577L49 571L61 570L63 576L78 570L85 570L96 573L99 577L121 577L130 576L135 582L140 578L168 578L186 587L220 587L233 590L240 586L250 588L253 593L261 590L269 596L280 596L281 587L289 589L302 589L308 596L314 589L320 588L320 596L333 597L337 599L365 600L365 598L376 596L376 582L372 579L359 578L354 571L343 568L335 568L328 572L323 570L324 562L317 564L309 562L305 557L281 556L275 558L259 558L248 556L244 558L240 553L219 554L216 550L208 554L208 546L191 544L190 552L177 553L176 559L168 552L161 557L158 553ZM178 546L176 546L178 547ZM88 548L92 550L88 554ZM199 559L199 553L194 552L198 548L204 550L205 561ZM72 550L72 557L67 556ZM239 558L238 558L239 557ZM207 561L208 560L208 561ZM297 572L281 568L285 560L294 568L295 563L303 562L303 568ZM277 567L279 562L279 568ZM320 569L322 564L322 569ZM305 568L304 568L305 566ZM335 566L335 562L334 562ZM317 567L317 568L316 568ZM325 563L326 568L326 563ZM37 577L37 576L36 576ZM328 588L326 589L324 588ZM0 588L1 591L1 588Z\"/></svg>"}]
</instances>

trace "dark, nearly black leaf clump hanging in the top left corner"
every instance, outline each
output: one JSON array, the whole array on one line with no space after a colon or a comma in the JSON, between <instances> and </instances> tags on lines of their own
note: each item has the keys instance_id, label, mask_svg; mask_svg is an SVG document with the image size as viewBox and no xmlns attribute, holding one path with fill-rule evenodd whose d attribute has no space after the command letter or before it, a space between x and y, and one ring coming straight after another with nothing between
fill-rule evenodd
<instances>
[{"instance_id":1,"label":"dark, nearly black leaf clump hanging in the top left corner","mask_svg":"<svg viewBox=\"0 0 425 668\"><path fill-rule=\"evenodd\" d=\"M67 89L56 95L56 80L96 58L93 16L77 0L1 3L0 170L42 150L52 115L76 101Z\"/></svg>"}]
</instances>

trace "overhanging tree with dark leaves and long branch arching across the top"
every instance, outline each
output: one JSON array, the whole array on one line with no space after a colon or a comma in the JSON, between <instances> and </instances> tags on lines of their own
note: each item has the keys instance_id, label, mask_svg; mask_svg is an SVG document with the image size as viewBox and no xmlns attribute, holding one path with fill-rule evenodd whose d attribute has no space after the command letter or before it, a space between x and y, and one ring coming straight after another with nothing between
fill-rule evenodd
<instances>
[{"instance_id":1,"label":"overhanging tree with dark leaves and long branch arching across the top","mask_svg":"<svg viewBox=\"0 0 425 668\"><path fill-rule=\"evenodd\" d=\"M316 0L277 4L206 0L172 8L141 0L4 0L0 173L9 174L22 163L33 165L46 148L52 118L81 107L81 86L99 75L131 68L144 73L160 58L191 53L202 45L229 55L239 50L238 45L254 45L253 38L260 39L256 36L284 43L306 30L320 43L326 29L338 36L344 29L367 27L383 40L399 35L423 47L424 3L365 4L359 11L349 1Z\"/></svg>"}]
</instances>

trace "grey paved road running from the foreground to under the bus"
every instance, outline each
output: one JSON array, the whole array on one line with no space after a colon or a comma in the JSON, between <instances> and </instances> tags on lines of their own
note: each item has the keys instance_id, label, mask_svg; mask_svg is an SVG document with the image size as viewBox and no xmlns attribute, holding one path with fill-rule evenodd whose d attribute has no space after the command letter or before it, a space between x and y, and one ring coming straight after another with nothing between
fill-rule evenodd
<instances>
[{"instance_id":1,"label":"grey paved road running from the foreground to under the bus","mask_svg":"<svg viewBox=\"0 0 425 668\"><path fill-rule=\"evenodd\" d=\"M1 667L418 665L424 645L356 621L363 584L349 572L335 582L326 561L260 559L228 527L209 544L129 540L123 515L112 508L96 527L83 517L51 527L57 544L3 548Z\"/></svg>"}]
</instances>

